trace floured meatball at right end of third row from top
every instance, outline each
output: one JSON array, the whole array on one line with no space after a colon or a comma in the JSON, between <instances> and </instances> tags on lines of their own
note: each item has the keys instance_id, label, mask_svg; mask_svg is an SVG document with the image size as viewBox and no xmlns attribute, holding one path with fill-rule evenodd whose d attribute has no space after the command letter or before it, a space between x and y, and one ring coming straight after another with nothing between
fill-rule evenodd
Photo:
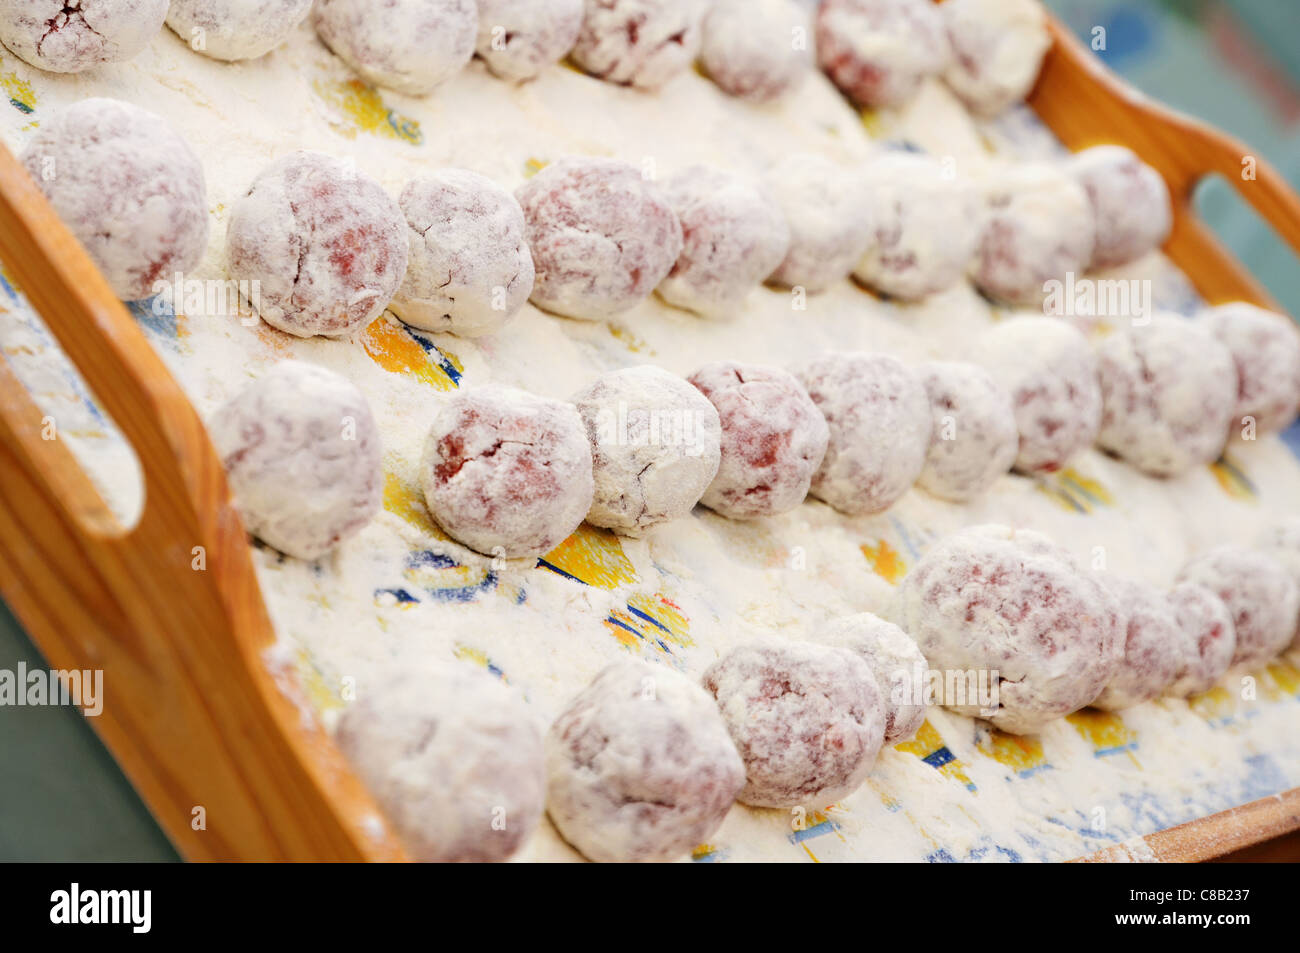
<instances>
[{"instance_id":1,"label":"floured meatball at right end of third row from top","mask_svg":"<svg viewBox=\"0 0 1300 953\"><path fill-rule=\"evenodd\" d=\"M1286 315L1238 302L1210 308L1200 319L1232 352L1238 393L1234 416L1256 436L1286 430L1300 412L1300 332Z\"/></svg>"}]
</instances>

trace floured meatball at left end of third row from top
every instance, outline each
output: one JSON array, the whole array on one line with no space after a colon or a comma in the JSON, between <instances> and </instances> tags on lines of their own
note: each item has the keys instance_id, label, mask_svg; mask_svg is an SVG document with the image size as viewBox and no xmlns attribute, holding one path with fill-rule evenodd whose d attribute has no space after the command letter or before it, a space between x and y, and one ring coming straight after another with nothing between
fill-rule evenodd
<instances>
[{"instance_id":1,"label":"floured meatball at left end of third row from top","mask_svg":"<svg viewBox=\"0 0 1300 953\"><path fill-rule=\"evenodd\" d=\"M333 371L286 360L208 423L244 528L318 559L380 511L382 446L370 406Z\"/></svg>"}]
</instances>

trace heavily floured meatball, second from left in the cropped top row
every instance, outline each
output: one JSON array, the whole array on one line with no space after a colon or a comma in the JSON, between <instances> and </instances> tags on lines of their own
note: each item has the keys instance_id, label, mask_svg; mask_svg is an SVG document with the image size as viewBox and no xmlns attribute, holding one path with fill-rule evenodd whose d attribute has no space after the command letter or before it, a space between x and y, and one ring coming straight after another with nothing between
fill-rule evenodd
<instances>
[{"instance_id":1,"label":"heavily floured meatball, second from left in the cropped top row","mask_svg":"<svg viewBox=\"0 0 1300 953\"><path fill-rule=\"evenodd\" d=\"M307 18L312 0L172 0L166 25L214 60L256 60Z\"/></svg>"}]
</instances>

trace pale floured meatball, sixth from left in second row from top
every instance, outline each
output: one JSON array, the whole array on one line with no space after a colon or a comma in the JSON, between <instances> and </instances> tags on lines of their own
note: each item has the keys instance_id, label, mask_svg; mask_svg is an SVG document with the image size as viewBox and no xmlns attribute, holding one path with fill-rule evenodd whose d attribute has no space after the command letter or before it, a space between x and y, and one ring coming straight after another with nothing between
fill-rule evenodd
<instances>
[{"instance_id":1,"label":"pale floured meatball, sixth from left in second row from top","mask_svg":"<svg viewBox=\"0 0 1300 953\"><path fill-rule=\"evenodd\" d=\"M849 277L871 242L871 200L861 178L798 153L777 163L766 182L790 229L789 251L770 281L815 294Z\"/></svg>"}]
</instances>

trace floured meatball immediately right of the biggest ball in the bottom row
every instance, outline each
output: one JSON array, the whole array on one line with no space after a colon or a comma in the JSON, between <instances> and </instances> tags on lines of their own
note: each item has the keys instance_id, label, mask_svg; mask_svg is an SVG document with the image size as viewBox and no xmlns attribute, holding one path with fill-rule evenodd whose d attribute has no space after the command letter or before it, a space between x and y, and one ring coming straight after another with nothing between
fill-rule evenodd
<instances>
[{"instance_id":1,"label":"floured meatball immediately right of the biggest ball in the bottom row","mask_svg":"<svg viewBox=\"0 0 1300 953\"><path fill-rule=\"evenodd\" d=\"M1097 579L1118 599L1128 628L1123 662L1092 707L1121 711L1149 702L1173 684L1187 659L1191 640L1165 593L1112 573L1098 573Z\"/></svg>"}]
</instances>

